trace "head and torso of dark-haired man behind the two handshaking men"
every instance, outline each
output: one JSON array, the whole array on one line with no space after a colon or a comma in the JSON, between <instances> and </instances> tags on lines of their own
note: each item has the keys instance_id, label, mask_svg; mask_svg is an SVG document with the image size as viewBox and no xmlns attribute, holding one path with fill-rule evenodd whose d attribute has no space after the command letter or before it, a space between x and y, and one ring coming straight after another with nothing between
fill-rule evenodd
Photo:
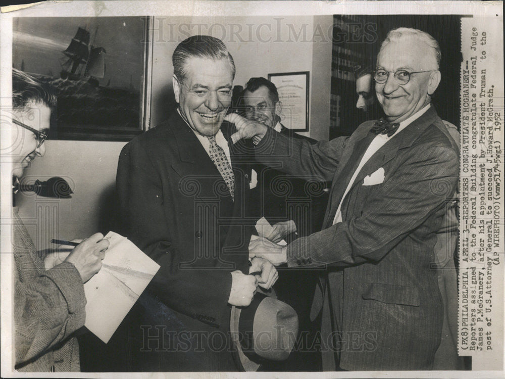
<instances>
[{"instance_id":1,"label":"head and torso of dark-haired man behind the two handshaking men","mask_svg":"<svg viewBox=\"0 0 505 379\"><path fill-rule=\"evenodd\" d=\"M297 134L281 124L282 103L270 80L250 78L242 92L242 102L247 119L261 122L289 138L317 143L317 140ZM272 225L275 224L270 240L278 242L290 233L308 235L321 229L328 196L315 178L290 177L262 164L255 165L253 170L251 182L256 201L251 204L259 217L265 216Z\"/></svg>"}]
</instances>

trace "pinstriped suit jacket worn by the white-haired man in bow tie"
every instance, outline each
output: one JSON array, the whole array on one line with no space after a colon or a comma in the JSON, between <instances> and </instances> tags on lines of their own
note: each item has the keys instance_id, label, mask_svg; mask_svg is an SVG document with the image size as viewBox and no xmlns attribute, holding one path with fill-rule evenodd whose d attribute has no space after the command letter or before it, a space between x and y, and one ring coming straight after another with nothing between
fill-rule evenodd
<instances>
[{"instance_id":1,"label":"pinstriped suit jacket worn by the white-haired man in bow tie","mask_svg":"<svg viewBox=\"0 0 505 379\"><path fill-rule=\"evenodd\" d=\"M345 188L370 142L374 122L350 137L310 145L267 132L257 158L288 156L290 173L332 180L323 230L287 248L288 266L326 265L313 311L345 370L430 369L440 343L442 299L433 247L445 200L456 189L459 151L433 107L379 149L360 171L332 225ZM383 168L385 179L364 185ZM323 368L333 361L323 346ZM330 354L331 355L331 354Z\"/></svg>"}]
</instances>

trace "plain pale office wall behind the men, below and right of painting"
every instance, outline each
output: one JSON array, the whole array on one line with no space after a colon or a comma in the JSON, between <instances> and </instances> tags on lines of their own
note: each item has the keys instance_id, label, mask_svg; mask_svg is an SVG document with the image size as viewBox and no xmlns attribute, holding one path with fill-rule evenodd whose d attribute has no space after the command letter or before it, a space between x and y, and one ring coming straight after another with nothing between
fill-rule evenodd
<instances>
[{"instance_id":1,"label":"plain pale office wall behind the men, below and right of painting","mask_svg":"<svg viewBox=\"0 0 505 379\"><path fill-rule=\"evenodd\" d=\"M327 31L331 31L331 24L331 15L155 19L151 125L164 120L176 106L171 82L175 46L187 36L200 33L224 40L237 68L235 85L244 85L252 76L310 71L310 127L302 134L328 139L331 40ZM314 36L316 29L318 37ZM25 170L25 180L33 183L35 179L61 176L71 183L74 194L71 199L55 200L17 196L20 215L38 249L48 248L51 238L84 238L111 228L117 161L125 144L46 141L45 156Z\"/></svg>"}]
</instances>

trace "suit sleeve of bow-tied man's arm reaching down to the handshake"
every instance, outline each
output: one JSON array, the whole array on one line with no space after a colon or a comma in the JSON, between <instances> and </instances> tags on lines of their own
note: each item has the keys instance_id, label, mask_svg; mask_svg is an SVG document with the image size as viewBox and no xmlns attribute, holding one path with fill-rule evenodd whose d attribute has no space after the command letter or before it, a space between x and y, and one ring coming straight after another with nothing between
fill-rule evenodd
<instances>
[{"instance_id":1,"label":"suit sleeve of bow-tied man's arm reaching down to the handshake","mask_svg":"<svg viewBox=\"0 0 505 379\"><path fill-rule=\"evenodd\" d=\"M419 144L404 159L370 192L361 215L291 243L288 266L300 261L339 267L378 262L443 207L457 186L457 152L441 144Z\"/></svg>"}]
</instances>

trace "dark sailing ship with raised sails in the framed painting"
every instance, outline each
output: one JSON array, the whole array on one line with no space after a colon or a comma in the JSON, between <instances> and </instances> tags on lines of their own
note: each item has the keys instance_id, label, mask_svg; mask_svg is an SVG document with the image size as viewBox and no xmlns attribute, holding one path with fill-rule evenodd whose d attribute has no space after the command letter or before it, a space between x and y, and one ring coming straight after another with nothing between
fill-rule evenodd
<instances>
[{"instance_id":1,"label":"dark sailing ship with raised sails in the framed painting","mask_svg":"<svg viewBox=\"0 0 505 379\"><path fill-rule=\"evenodd\" d=\"M98 27L95 36L97 32ZM98 85L97 79L104 78L106 51L100 46L93 46L89 40L89 31L79 27L68 48L62 52L65 55L60 73L62 79L87 79L90 84Z\"/></svg>"}]
</instances>

